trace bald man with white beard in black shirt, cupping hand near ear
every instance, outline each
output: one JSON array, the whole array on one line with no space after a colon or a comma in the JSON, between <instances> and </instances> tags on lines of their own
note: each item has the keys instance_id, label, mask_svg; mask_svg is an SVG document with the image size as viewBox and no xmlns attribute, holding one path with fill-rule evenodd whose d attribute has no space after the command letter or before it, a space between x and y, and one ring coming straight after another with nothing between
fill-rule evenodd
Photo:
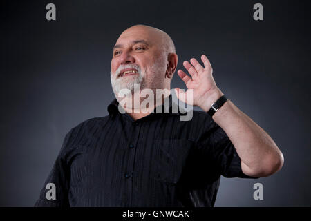
<instances>
[{"instance_id":1,"label":"bald man with white beard in black shirt, cupping hand near ear","mask_svg":"<svg viewBox=\"0 0 311 221\"><path fill-rule=\"evenodd\" d=\"M144 89L170 90L178 56L162 30L124 30L111 59L116 99L109 115L88 119L66 135L35 206L214 206L220 175L256 178L279 171L279 148L223 96L209 60L201 59L203 66L196 59L183 63L190 76L178 70L188 90L176 89L176 95L202 108L191 120L180 121L180 110L157 111L156 102L140 108L122 90L134 96ZM120 108L124 99L128 103ZM169 100L170 110L171 99L160 97Z\"/></svg>"}]
</instances>

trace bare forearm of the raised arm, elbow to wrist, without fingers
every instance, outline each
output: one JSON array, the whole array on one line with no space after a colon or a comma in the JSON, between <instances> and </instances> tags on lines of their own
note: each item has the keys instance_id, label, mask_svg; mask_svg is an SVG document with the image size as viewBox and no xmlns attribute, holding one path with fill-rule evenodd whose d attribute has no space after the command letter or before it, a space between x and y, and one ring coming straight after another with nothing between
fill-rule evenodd
<instances>
[{"instance_id":1,"label":"bare forearm of the raised arm, elbow to wrist, without fingers","mask_svg":"<svg viewBox=\"0 0 311 221\"><path fill-rule=\"evenodd\" d=\"M201 108L208 111L207 108L222 95L217 88ZM243 173L253 177L265 177L281 169L284 159L278 146L263 128L239 110L232 101L225 102L213 115L213 119L234 144L241 158Z\"/></svg>"}]
</instances>

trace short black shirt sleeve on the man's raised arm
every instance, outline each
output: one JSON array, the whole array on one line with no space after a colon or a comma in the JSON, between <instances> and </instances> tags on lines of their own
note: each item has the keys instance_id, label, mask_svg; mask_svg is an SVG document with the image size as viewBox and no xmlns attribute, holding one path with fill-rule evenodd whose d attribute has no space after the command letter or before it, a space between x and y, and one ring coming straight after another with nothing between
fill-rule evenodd
<instances>
[{"instance_id":1,"label":"short black shirt sleeve on the man's raised arm","mask_svg":"<svg viewBox=\"0 0 311 221\"><path fill-rule=\"evenodd\" d=\"M208 144L210 147L210 157L214 162L216 169L224 177L240 177L257 179L245 175L241 168L241 158L236 152L236 148L232 144L229 137L218 124L214 123L211 128Z\"/></svg>"}]
</instances>

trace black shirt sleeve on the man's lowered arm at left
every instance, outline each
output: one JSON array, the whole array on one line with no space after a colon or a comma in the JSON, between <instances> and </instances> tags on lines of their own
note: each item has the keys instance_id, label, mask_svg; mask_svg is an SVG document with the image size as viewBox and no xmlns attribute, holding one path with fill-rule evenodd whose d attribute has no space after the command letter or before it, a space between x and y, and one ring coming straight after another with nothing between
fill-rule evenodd
<instances>
[{"instance_id":1,"label":"black shirt sleeve on the man's lowered arm at left","mask_svg":"<svg viewBox=\"0 0 311 221\"><path fill-rule=\"evenodd\" d=\"M72 131L67 133L52 171L44 182L35 207L67 207L69 206L68 189L70 183L70 166L68 166L69 140Z\"/></svg>"}]
</instances>

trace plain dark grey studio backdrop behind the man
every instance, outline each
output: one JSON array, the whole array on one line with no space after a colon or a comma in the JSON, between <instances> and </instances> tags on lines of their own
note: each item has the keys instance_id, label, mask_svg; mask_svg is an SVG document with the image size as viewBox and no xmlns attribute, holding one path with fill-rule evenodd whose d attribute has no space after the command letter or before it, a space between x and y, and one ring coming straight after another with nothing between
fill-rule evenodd
<instances>
[{"instance_id":1,"label":"plain dark grey studio backdrop behind the man","mask_svg":"<svg viewBox=\"0 0 311 221\"><path fill-rule=\"evenodd\" d=\"M65 134L107 114L112 47L136 23L171 35L178 68L205 53L218 87L283 152L271 177L222 177L215 206L311 206L310 1L1 1L0 15L0 206L32 206Z\"/></svg>"}]
</instances>

